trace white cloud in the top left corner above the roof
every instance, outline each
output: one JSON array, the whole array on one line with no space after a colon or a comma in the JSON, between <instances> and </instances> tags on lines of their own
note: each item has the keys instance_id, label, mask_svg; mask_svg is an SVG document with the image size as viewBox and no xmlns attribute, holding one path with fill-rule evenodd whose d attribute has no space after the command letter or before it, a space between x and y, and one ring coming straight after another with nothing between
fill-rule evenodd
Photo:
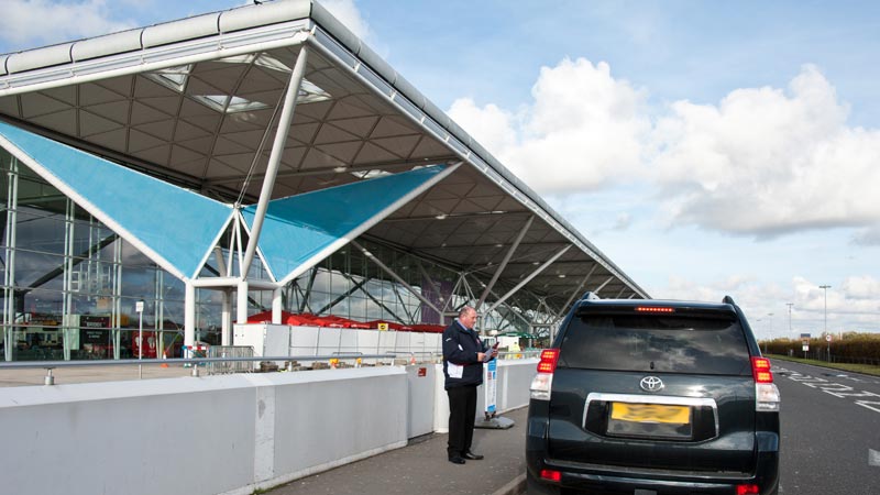
<instances>
[{"instance_id":1,"label":"white cloud in the top left corner above the roof","mask_svg":"<svg viewBox=\"0 0 880 495\"><path fill-rule=\"evenodd\" d=\"M16 46L78 40L135 26L112 19L107 0L3 0L0 37Z\"/></svg>"}]
</instances>

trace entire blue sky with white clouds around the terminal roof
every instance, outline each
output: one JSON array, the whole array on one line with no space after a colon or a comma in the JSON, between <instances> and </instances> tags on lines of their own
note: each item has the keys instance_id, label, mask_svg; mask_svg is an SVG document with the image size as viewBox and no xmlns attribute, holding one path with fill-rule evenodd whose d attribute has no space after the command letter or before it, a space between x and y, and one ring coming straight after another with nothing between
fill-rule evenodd
<instances>
[{"instance_id":1,"label":"entire blue sky with white clouds around the terminal roof","mask_svg":"<svg viewBox=\"0 0 880 495\"><path fill-rule=\"evenodd\" d=\"M246 3L0 0L0 53ZM651 297L880 332L880 2L321 3Z\"/></svg>"}]
</instances>

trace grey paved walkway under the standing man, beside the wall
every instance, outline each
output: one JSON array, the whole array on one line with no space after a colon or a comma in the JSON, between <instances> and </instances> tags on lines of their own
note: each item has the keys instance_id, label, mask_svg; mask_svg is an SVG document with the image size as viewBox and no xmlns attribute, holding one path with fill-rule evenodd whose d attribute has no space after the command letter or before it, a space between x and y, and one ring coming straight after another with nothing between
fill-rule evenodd
<instances>
[{"instance_id":1,"label":"grey paved walkway under the standing man, beside the wall","mask_svg":"<svg viewBox=\"0 0 880 495\"><path fill-rule=\"evenodd\" d=\"M482 461L447 460L447 435L430 435L393 450L267 491L271 495L515 495L525 492L526 414L504 414L506 430L476 429L473 451Z\"/></svg>"}]
</instances>

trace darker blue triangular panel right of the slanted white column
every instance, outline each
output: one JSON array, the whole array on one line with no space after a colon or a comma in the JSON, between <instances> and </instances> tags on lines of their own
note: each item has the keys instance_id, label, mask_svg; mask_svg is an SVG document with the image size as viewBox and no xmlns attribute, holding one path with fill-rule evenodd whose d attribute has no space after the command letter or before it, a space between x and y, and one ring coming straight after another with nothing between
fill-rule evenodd
<instances>
[{"instance_id":1,"label":"darker blue triangular panel right of the slanted white column","mask_svg":"<svg viewBox=\"0 0 880 495\"><path fill-rule=\"evenodd\" d=\"M276 279L287 282L356 238L439 180L435 165L270 201L260 251ZM242 209L253 226L256 206Z\"/></svg>"}]
</instances>

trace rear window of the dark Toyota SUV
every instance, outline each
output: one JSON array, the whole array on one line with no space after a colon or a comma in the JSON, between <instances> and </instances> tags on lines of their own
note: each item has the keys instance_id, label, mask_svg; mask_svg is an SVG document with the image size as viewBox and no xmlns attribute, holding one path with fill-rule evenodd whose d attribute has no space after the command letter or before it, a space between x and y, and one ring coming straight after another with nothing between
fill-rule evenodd
<instances>
[{"instance_id":1,"label":"rear window of the dark Toyota SUV","mask_svg":"<svg viewBox=\"0 0 880 495\"><path fill-rule=\"evenodd\" d=\"M734 318L602 315L572 318L560 344L564 367L748 375L749 351Z\"/></svg>"}]
</instances>

